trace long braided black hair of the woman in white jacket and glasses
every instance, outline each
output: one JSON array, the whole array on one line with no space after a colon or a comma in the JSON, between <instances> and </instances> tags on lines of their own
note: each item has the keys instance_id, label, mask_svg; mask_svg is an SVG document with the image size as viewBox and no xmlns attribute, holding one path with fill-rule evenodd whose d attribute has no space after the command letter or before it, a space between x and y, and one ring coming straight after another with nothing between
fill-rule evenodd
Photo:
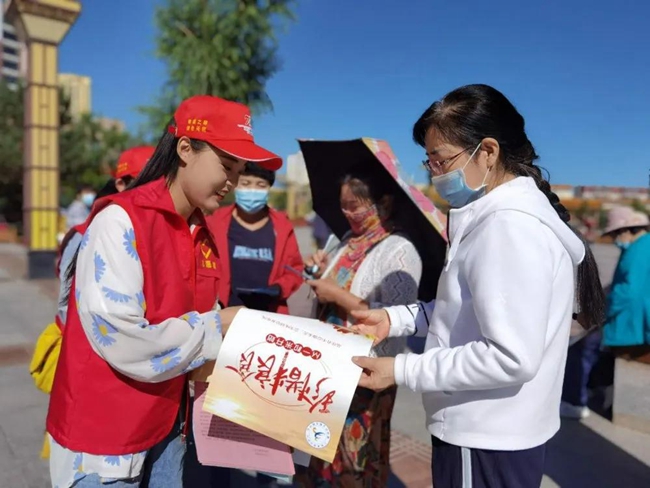
<instances>
[{"instance_id":1,"label":"long braided black hair of the woman in white jacket and glasses","mask_svg":"<svg viewBox=\"0 0 650 488\"><path fill-rule=\"evenodd\" d=\"M539 156L526 135L524 118L501 92L488 85L467 85L453 90L425 110L413 126L413 140L425 147L430 130L463 148L476 147L486 137L496 139L500 146L501 168L516 176L533 178L568 225L569 212L551 191L542 169L535 164ZM583 326L598 326L605 317L605 294L596 259L584 237L569 227L585 245L585 258L578 267L577 276L578 304L586 322Z\"/></svg>"}]
</instances>

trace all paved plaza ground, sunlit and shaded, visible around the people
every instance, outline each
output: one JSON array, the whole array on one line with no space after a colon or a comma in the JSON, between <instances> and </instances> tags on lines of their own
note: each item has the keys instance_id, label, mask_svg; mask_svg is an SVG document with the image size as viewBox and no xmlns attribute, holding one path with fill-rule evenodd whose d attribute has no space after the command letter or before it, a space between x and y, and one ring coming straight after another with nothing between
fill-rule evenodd
<instances>
[{"instance_id":1,"label":"all paved plaza ground, sunlit and shaded, visible around the people","mask_svg":"<svg viewBox=\"0 0 650 488\"><path fill-rule=\"evenodd\" d=\"M55 280L26 282L25 253L0 245L0 488L48 486L38 458L47 397L27 371L33 342L55 311ZM400 390L393 415L389 487L429 487L428 434L419 395ZM565 422L549 443L544 488L645 488L650 479L650 436L592 415ZM239 485L254 486L250 484ZM239 488L238 486L238 488Z\"/></svg>"}]
</instances>

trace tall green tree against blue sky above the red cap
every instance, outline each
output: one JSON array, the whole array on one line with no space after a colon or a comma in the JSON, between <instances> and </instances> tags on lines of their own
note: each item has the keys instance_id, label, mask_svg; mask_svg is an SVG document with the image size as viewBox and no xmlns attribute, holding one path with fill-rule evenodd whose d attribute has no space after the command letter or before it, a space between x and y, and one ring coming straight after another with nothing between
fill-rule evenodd
<instances>
[{"instance_id":1,"label":"tall green tree against blue sky above the red cap","mask_svg":"<svg viewBox=\"0 0 650 488\"><path fill-rule=\"evenodd\" d=\"M215 95L272 108L266 82L278 71L278 26L294 20L293 0L166 0L156 11L156 55L168 80L153 107L143 107L156 135L175 107Z\"/></svg>"}]
</instances>

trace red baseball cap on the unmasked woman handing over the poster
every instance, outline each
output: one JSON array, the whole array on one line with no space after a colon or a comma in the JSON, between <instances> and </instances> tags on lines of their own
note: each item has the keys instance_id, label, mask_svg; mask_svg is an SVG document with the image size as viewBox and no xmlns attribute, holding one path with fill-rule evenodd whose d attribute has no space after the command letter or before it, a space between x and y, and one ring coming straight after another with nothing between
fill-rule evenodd
<instances>
[{"instance_id":1,"label":"red baseball cap on the unmasked woman handing over the poster","mask_svg":"<svg viewBox=\"0 0 650 488\"><path fill-rule=\"evenodd\" d=\"M169 132L212 144L231 156L278 170L282 158L253 140L251 113L246 105L209 95L183 100L174 114L176 127Z\"/></svg>"}]
</instances>

